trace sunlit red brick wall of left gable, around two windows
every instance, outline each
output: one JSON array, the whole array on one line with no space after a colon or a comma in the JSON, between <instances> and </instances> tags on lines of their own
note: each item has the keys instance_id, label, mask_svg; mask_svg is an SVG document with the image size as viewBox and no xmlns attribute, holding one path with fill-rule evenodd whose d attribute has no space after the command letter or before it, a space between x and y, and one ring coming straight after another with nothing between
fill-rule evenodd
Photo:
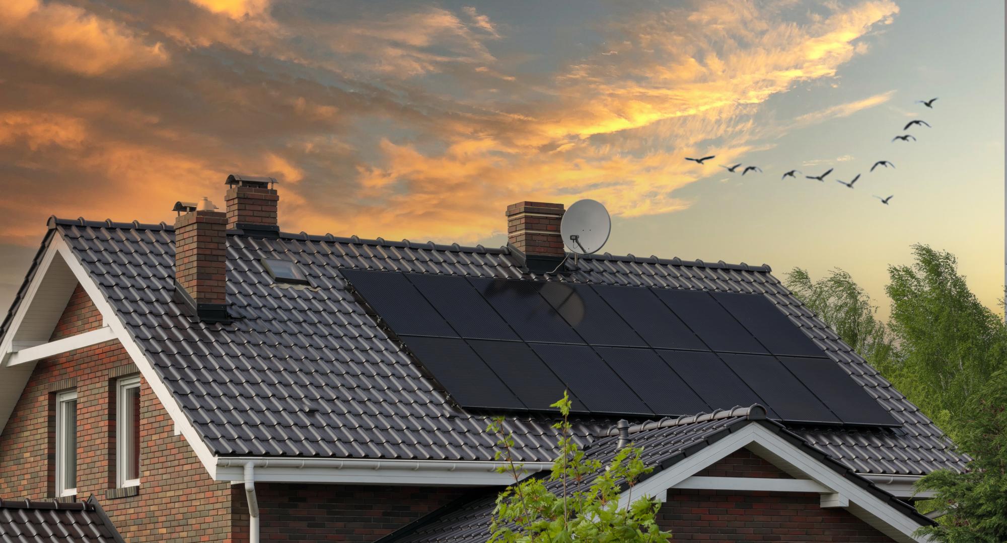
<instances>
[{"instance_id":1,"label":"sunlit red brick wall of left gable, around two windows","mask_svg":"<svg viewBox=\"0 0 1007 543\"><path fill-rule=\"evenodd\" d=\"M95 327L78 288L53 338ZM99 321L100 323L100 318ZM78 391L78 499L94 494L130 542L230 541L231 485L210 480L146 381L141 380L140 487L112 498L115 382L136 372L118 341L38 361L0 434L0 497L50 497L54 491L54 393Z\"/></svg>"}]
</instances>

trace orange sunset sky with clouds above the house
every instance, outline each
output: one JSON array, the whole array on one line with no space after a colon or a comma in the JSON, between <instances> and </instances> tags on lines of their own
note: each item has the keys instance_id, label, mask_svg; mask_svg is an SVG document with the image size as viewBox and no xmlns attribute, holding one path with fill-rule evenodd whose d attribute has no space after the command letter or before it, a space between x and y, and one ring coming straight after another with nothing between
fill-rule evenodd
<instances>
[{"instance_id":1,"label":"orange sunset sky with clouds above the house","mask_svg":"<svg viewBox=\"0 0 1007 543\"><path fill-rule=\"evenodd\" d=\"M170 223L244 173L280 181L285 231L387 239L499 246L508 204L593 198L613 254L842 267L882 318L887 266L927 243L999 311L1003 21L1002 0L4 0L0 305L49 215Z\"/></svg>"}]
</instances>

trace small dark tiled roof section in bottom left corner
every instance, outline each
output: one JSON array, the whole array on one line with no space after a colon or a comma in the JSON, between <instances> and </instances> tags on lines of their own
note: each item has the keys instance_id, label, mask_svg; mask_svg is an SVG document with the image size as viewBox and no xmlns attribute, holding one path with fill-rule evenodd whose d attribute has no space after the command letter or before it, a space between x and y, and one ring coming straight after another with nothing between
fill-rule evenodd
<instances>
[{"instance_id":1,"label":"small dark tiled roof section in bottom left corner","mask_svg":"<svg viewBox=\"0 0 1007 543\"><path fill-rule=\"evenodd\" d=\"M0 500L0 540L123 543L94 496L86 502Z\"/></svg>"}]
</instances>

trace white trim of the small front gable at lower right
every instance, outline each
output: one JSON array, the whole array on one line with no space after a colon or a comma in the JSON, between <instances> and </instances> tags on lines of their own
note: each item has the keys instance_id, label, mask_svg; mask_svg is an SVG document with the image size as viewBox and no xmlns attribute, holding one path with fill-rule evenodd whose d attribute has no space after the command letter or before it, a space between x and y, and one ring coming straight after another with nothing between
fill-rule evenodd
<instances>
[{"instance_id":1,"label":"white trim of the small front gable at lower right","mask_svg":"<svg viewBox=\"0 0 1007 543\"><path fill-rule=\"evenodd\" d=\"M903 512L824 466L818 458L802 450L802 447L796 446L776 432L755 422L748 423L703 448L697 455L688 457L644 480L634 486L631 493L624 492L619 499L619 505L624 507L631 497L640 496L653 496L664 501L667 499L669 489L697 488L692 486L693 483L706 478L693 478L696 473L741 447L751 449L790 475L800 474L802 478L821 486L822 490L804 492L819 492L822 495L823 507L845 507L850 513L895 541L906 543L929 541L926 538L912 536L921 525ZM685 486L680 487L680 485ZM772 492L772 489L760 490Z\"/></svg>"}]
</instances>

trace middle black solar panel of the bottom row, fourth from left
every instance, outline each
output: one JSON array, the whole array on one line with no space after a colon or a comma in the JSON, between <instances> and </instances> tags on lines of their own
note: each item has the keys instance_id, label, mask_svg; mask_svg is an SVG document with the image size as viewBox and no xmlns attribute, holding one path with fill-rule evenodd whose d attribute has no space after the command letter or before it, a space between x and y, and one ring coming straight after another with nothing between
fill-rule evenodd
<instances>
[{"instance_id":1,"label":"middle black solar panel of the bottom row, fourth from left","mask_svg":"<svg viewBox=\"0 0 1007 543\"><path fill-rule=\"evenodd\" d=\"M710 406L651 349L598 347L598 355L659 415L709 412Z\"/></svg>"}]
</instances>

